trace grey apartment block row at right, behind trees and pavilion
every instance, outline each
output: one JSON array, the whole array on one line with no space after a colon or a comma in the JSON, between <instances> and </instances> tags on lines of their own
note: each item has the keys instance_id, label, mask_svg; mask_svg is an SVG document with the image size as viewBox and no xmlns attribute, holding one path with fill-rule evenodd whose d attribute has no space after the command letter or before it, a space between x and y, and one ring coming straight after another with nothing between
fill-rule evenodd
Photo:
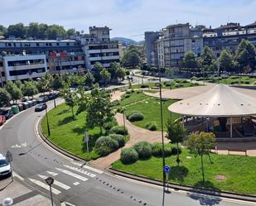
<instances>
[{"instance_id":1,"label":"grey apartment block row at right, behind trees and pavilion","mask_svg":"<svg viewBox=\"0 0 256 206\"><path fill-rule=\"evenodd\" d=\"M247 26L227 23L215 29L201 25L193 27L186 23L167 26L157 32L147 31L147 65L181 67L186 52L191 50L200 56L204 46L209 46L218 57L224 49L234 52L243 39L251 41L256 46L256 22Z\"/></svg>"}]
</instances>

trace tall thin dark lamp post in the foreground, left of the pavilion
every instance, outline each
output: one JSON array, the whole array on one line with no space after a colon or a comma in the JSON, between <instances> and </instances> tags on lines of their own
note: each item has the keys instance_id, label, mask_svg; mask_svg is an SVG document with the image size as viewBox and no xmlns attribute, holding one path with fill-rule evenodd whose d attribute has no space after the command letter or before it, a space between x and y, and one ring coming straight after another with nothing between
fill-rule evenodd
<instances>
[{"instance_id":1,"label":"tall thin dark lamp post in the foreground, left of the pavilion","mask_svg":"<svg viewBox=\"0 0 256 206\"><path fill-rule=\"evenodd\" d=\"M159 69L159 95L160 95L160 115L161 115L161 132L162 132L162 206L164 206L165 188L166 188L166 173L163 170L166 165L165 154L164 154L164 141L163 141L163 120L162 120L162 84L161 84L161 72Z\"/></svg>"}]
</instances>

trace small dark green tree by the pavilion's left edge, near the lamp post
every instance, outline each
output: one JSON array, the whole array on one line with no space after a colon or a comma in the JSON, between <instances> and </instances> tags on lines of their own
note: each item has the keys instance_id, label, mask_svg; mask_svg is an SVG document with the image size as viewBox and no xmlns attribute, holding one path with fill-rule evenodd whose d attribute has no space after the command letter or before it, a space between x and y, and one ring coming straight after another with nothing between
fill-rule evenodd
<instances>
[{"instance_id":1,"label":"small dark green tree by the pavilion's left edge, near the lamp post","mask_svg":"<svg viewBox=\"0 0 256 206\"><path fill-rule=\"evenodd\" d=\"M171 143L176 144L177 146L177 159L176 162L178 165L180 164L180 152L179 152L179 143L181 143L186 137L186 129L183 128L180 122L171 122L169 120L167 122L167 139L171 141Z\"/></svg>"}]
</instances>

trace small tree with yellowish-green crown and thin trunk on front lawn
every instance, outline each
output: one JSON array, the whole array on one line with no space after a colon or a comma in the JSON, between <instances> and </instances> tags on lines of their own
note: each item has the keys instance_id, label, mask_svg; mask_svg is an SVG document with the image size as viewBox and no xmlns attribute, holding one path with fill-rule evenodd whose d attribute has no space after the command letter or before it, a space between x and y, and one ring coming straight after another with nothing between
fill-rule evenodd
<instances>
[{"instance_id":1,"label":"small tree with yellowish-green crown and thin trunk on front lawn","mask_svg":"<svg viewBox=\"0 0 256 206\"><path fill-rule=\"evenodd\" d=\"M203 183L205 183L203 156L209 155L211 148L215 146L215 134L200 132L200 134L198 135L192 133L186 140L186 146L192 153L195 154L195 156L200 156Z\"/></svg>"}]
</instances>

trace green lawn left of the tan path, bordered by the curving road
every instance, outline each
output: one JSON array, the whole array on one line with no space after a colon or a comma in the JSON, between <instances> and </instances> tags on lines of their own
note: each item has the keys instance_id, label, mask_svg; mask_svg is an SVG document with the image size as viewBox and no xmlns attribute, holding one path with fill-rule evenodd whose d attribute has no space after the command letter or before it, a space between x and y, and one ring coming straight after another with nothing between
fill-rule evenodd
<instances>
[{"instance_id":1,"label":"green lawn left of the tan path, bordered by the curving road","mask_svg":"<svg viewBox=\"0 0 256 206\"><path fill-rule=\"evenodd\" d=\"M76 108L75 108L76 111ZM85 112L80 113L72 118L71 110L65 103L60 104L57 108L48 113L51 137L50 140L56 145L67 151L85 159L96 159L99 157L93 150L94 141L99 137L99 127L89 130L89 154L86 152L86 146L83 144L85 133ZM41 122L42 132L47 134L46 117Z\"/></svg>"}]
</instances>

